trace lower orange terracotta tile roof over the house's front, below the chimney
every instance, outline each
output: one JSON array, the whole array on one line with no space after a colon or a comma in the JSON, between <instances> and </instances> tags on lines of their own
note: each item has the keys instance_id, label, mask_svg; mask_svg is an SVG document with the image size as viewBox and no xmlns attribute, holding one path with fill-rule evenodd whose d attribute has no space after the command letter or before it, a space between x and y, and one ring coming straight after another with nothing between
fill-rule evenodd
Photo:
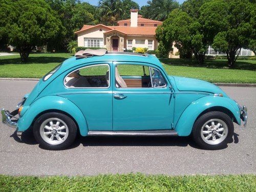
<instances>
[{"instance_id":1,"label":"lower orange terracotta tile roof over the house's front, below the chimney","mask_svg":"<svg viewBox=\"0 0 256 192\"><path fill-rule=\"evenodd\" d=\"M105 33L109 33L111 31L119 31L123 34L129 35L129 36L154 36L156 35L156 29L157 27L126 27L126 26L105 26L102 24L99 25L84 25L81 30L76 31L75 34L80 33L82 31L86 31L88 29L92 29L95 27L105 27L105 28L109 28L109 31L106 31Z\"/></svg>"}]
</instances>

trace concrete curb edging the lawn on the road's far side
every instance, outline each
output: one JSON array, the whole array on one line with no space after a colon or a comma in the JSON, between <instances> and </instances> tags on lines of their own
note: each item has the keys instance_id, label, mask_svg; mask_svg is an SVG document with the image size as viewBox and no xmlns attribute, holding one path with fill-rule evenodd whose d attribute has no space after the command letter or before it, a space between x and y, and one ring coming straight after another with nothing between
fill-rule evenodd
<instances>
[{"instance_id":1,"label":"concrete curb edging the lawn on the road's far side","mask_svg":"<svg viewBox=\"0 0 256 192\"><path fill-rule=\"evenodd\" d=\"M38 81L38 78L0 78L0 80L15 80L15 81ZM225 82L216 82L213 83L216 86L224 87L256 87L256 83L225 83Z\"/></svg>"}]
</instances>

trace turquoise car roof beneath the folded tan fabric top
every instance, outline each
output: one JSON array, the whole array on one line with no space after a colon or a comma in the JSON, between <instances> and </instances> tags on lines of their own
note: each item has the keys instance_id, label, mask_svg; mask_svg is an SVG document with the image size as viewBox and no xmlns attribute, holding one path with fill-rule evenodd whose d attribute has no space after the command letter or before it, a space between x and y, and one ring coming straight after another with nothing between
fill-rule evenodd
<instances>
[{"instance_id":1,"label":"turquoise car roof beneath the folded tan fabric top","mask_svg":"<svg viewBox=\"0 0 256 192\"><path fill-rule=\"evenodd\" d=\"M103 56L93 56L87 58L77 58L71 57L62 63L62 70L68 70L73 67L86 64L90 65L91 62L106 62L106 61L126 61L126 62L147 62L152 63L160 68L162 68L161 62L158 60L157 57L150 54L136 54L136 53L127 53L127 52L119 52L119 53L106 53Z\"/></svg>"}]
</instances>

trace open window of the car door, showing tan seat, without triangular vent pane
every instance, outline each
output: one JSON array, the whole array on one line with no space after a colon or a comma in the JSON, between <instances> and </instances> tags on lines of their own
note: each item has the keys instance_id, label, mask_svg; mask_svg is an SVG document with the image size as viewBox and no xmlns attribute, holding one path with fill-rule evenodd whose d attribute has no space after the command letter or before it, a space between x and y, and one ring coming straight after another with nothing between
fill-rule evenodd
<instances>
[{"instance_id":1,"label":"open window of the car door, showing tan seat, without triangular vent pane","mask_svg":"<svg viewBox=\"0 0 256 192\"><path fill-rule=\"evenodd\" d=\"M141 65L117 65L116 88L152 88L150 68Z\"/></svg>"}]
</instances>

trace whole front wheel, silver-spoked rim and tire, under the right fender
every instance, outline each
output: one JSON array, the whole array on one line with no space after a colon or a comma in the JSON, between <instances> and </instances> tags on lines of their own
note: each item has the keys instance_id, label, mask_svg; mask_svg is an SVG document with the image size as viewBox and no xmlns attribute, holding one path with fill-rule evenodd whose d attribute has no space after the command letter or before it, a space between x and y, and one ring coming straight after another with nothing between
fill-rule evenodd
<instances>
[{"instance_id":1,"label":"whole front wheel, silver-spoked rim and tire, under the right fender","mask_svg":"<svg viewBox=\"0 0 256 192\"><path fill-rule=\"evenodd\" d=\"M197 119L193 126L195 142L206 150L224 148L232 138L234 126L231 118L222 112L208 112Z\"/></svg>"}]
</instances>

